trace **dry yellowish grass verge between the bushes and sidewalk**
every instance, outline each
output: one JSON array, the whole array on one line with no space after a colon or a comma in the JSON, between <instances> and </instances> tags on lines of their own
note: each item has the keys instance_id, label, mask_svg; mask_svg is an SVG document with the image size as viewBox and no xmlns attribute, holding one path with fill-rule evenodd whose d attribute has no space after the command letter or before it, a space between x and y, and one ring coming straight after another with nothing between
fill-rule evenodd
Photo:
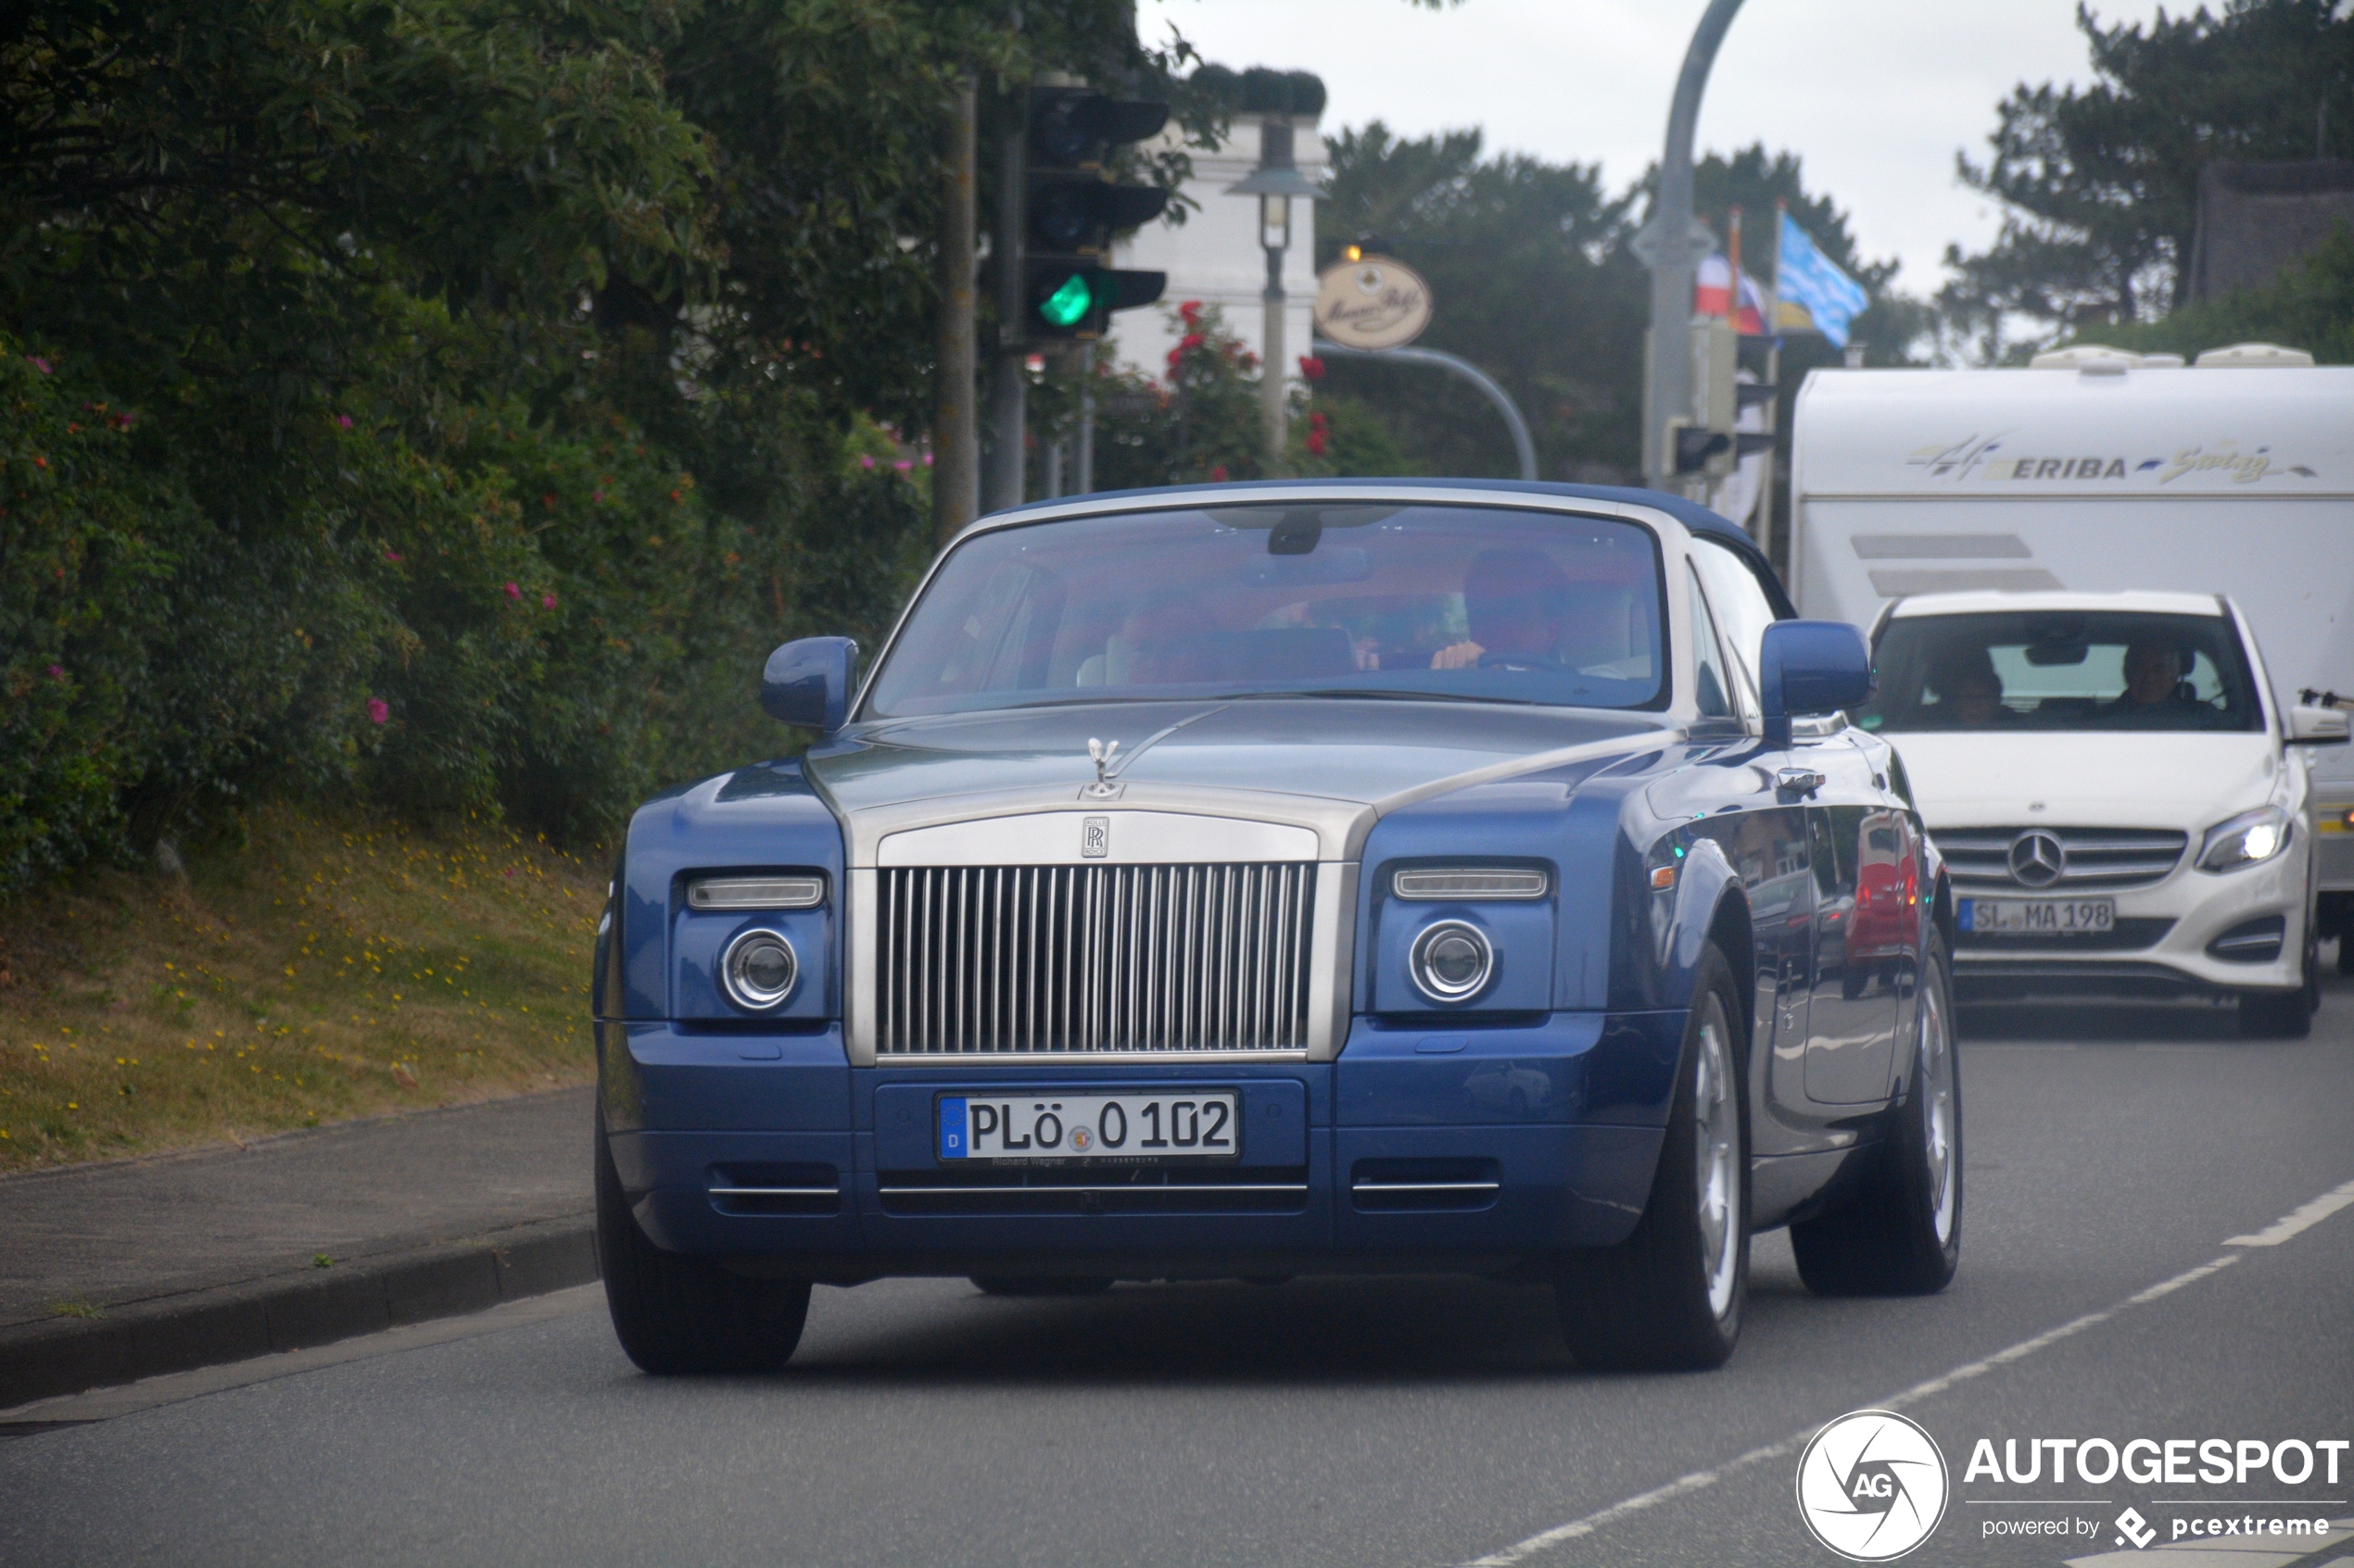
<instances>
[{"instance_id":1,"label":"dry yellowish grass verge between the bushes and sidewalk","mask_svg":"<svg viewBox=\"0 0 2354 1568\"><path fill-rule=\"evenodd\" d=\"M584 1084L603 905L506 827L290 806L75 872L0 910L0 1171Z\"/></svg>"}]
</instances>

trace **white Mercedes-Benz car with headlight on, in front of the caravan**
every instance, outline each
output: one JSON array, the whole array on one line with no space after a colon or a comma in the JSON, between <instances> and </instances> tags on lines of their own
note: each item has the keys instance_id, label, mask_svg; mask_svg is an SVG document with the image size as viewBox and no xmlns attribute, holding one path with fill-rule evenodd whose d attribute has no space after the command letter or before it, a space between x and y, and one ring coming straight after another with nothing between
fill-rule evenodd
<instances>
[{"instance_id":1,"label":"white Mercedes-Benz car with headlight on, in front of the caravan","mask_svg":"<svg viewBox=\"0 0 2354 1568\"><path fill-rule=\"evenodd\" d=\"M2236 994L2243 1034L2319 1001L2307 750L2217 595L1947 592L1871 628L1888 736L1954 882L1963 994Z\"/></svg>"}]
</instances>

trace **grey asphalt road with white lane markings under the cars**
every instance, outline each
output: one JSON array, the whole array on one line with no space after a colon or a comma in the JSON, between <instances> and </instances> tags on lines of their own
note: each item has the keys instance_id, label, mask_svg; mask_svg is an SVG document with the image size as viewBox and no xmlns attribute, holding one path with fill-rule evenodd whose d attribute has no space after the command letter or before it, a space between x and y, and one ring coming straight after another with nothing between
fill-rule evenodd
<instances>
[{"instance_id":1,"label":"grey asphalt road with white lane markings under the cars","mask_svg":"<svg viewBox=\"0 0 2354 1568\"><path fill-rule=\"evenodd\" d=\"M2354 1519L2354 1450L2338 1486L1963 1476L1977 1439L2354 1439L2354 1204L2314 1204L2354 1197L2354 983L2298 1044L2199 1006L1963 1030L1961 1276L1815 1300L1761 1239L1718 1373L1580 1373L1544 1291L1478 1281L887 1281L822 1288L779 1378L654 1382L579 1291L56 1406L89 1425L0 1441L0 1563L1834 1563L1798 1450L1890 1403L1951 1476L1907 1563L2112 1552L2128 1505L2159 1544ZM2152 1561L2298 1552L2354 1559Z\"/></svg>"}]
</instances>

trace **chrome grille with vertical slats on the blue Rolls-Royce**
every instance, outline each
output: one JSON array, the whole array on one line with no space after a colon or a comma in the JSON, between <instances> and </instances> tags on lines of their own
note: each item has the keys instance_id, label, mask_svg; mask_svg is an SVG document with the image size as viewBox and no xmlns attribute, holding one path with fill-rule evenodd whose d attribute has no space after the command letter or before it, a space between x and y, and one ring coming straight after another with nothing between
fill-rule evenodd
<instances>
[{"instance_id":1,"label":"chrome grille with vertical slats on the blue Rolls-Royce","mask_svg":"<svg viewBox=\"0 0 2354 1568\"><path fill-rule=\"evenodd\" d=\"M876 875L876 1056L1299 1051L1316 867Z\"/></svg>"}]
</instances>

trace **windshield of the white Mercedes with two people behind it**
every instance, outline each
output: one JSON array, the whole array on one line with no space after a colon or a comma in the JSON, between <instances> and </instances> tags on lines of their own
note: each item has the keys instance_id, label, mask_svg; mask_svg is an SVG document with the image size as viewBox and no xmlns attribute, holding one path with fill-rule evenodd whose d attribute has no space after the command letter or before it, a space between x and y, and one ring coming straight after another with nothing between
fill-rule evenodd
<instances>
[{"instance_id":1,"label":"windshield of the white Mercedes with two people behind it","mask_svg":"<svg viewBox=\"0 0 2354 1568\"><path fill-rule=\"evenodd\" d=\"M1878 731L2262 729L2222 616L1999 611L1897 616L1874 649Z\"/></svg>"}]
</instances>

